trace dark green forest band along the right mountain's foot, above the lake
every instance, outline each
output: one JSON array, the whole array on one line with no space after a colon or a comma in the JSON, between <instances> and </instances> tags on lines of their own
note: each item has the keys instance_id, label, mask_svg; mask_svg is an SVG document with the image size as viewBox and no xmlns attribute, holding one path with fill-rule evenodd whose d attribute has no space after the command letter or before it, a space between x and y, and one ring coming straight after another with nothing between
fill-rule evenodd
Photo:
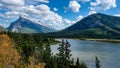
<instances>
[{"instance_id":1,"label":"dark green forest band along the right mountain's foot, above the lake","mask_svg":"<svg viewBox=\"0 0 120 68\"><path fill-rule=\"evenodd\" d=\"M48 38L93 38L93 39L120 39L119 33L113 33L109 31L101 30L79 30L70 32L53 32L53 33L41 33L43 37Z\"/></svg>"}]
</instances>

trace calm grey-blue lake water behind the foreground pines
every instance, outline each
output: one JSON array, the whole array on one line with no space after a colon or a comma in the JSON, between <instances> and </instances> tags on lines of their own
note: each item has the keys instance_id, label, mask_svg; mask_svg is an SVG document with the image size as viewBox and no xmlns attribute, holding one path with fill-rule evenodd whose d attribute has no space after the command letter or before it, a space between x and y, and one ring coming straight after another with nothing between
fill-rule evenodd
<instances>
[{"instance_id":1,"label":"calm grey-blue lake water behind the foreground pines","mask_svg":"<svg viewBox=\"0 0 120 68\"><path fill-rule=\"evenodd\" d=\"M68 41L71 44L72 57L75 60L79 57L88 68L95 68L95 56L101 61L101 68L120 68L120 44L76 39ZM51 46L54 54L58 53L58 45Z\"/></svg>"}]
</instances>

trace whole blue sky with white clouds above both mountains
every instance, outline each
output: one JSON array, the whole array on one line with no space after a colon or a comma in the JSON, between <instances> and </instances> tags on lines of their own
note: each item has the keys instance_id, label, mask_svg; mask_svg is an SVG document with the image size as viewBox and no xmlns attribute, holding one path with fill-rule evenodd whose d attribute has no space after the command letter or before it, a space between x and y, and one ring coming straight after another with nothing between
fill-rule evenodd
<instances>
[{"instance_id":1,"label":"whole blue sky with white clouds above both mountains","mask_svg":"<svg viewBox=\"0 0 120 68\"><path fill-rule=\"evenodd\" d=\"M120 16L120 0L0 0L4 27L26 16L60 30L94 13Z\"/></svg>"}]
</instances>

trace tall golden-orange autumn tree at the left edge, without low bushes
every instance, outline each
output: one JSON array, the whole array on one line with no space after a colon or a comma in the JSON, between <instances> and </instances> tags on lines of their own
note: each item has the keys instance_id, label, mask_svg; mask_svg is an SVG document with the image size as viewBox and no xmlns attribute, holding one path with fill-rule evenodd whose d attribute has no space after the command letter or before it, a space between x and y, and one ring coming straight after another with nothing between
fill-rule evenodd
<instances>
[{"instance_id":1,"label":"tall golden-orange autumn tree at the left edge, without low bushes","mask_svg":"<svg viewBox=\"0 0 120 68\"><path fill-rule=\"evenodd\" d=\"M0 68L15 68L18 66L19 54L8 35L0 35Z\"/></svg>"}]
</instances>

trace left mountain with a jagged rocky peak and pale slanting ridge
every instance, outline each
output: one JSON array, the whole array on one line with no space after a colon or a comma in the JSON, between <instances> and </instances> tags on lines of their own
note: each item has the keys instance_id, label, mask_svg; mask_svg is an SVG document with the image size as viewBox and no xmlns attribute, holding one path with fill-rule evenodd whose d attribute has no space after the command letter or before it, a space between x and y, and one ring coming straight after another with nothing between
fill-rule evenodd
<instances>
[{"instance_id":1,"label":"left mountain with a jagged rocky peak and pale slanting ridge","mask_svg":"<svg viewBox=\"0 0 120 68\"><path fill-rule=\"evenodd\" d=\"M47 33L55 31L51 26L25 16L20 16L19 19L12 22L7 29L21 33Z\"/></svg>"}]
</instances>

